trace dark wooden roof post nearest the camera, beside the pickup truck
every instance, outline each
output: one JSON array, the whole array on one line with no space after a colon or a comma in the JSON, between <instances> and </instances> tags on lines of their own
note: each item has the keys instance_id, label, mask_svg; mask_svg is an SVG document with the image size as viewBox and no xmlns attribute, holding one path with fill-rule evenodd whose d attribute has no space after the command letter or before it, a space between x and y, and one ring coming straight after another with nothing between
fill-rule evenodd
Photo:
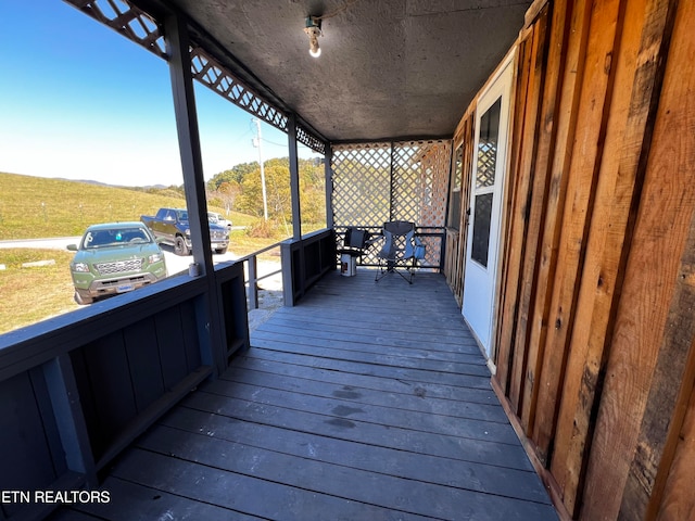
<instances>
[{"instance_id":1,"label":"dark wooden roof post nearest the camera, beside the pickup truck","mask_svg":"<svg viewBox=\"0 0 695 521\"><path fill-rule=\"evenodd\" d=\"M200 276L205 277L207 281L207 291L195 302L201 359L204 365L214 366L217 372L220 372L226 367L220 310L222 296L215 283L210 244L205 181L193 94L188 28L178 13L167 14L164 27L167 53L169 54L169 76L184 171L184 189L189 226L193 238L193 262L199 265Z\"/></svg>"}]
</instances>

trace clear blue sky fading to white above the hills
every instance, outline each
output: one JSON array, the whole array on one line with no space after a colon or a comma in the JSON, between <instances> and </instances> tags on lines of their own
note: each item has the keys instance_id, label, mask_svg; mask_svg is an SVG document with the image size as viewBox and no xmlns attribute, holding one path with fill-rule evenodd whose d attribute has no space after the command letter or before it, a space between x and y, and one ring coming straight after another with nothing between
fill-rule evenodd
<instances>
[{"instance_id":1,"label":"clear blue sky fading to white above the hills","mask_svg":"<svg viewBox=\"0 0 695 521\"><path fill-rule=\"evenodd\" d=\"M258 160L251 114L198 82L195 102L205 179ZM262 135L264 160L288 155ZM181 185L166 62L62 0L0 0L0 171Z\"/></svg>"}]
</instances>

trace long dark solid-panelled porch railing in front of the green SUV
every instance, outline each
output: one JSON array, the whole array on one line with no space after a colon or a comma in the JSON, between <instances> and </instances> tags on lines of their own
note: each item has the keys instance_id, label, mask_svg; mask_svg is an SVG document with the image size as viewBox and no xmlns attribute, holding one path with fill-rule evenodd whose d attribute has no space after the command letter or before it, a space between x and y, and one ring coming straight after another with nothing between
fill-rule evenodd
<instances>
[{"instance_id":1,"label":"long dark solid-panelled porch railing in front of the green SUV","mask_svg":"<svg viewBox=\"0 0 695 521\"><path fill-rule=\"evenodd\" d=\"M0 335L0 491L96 485L114 456L249 345L244 293L235 263ZM40 519L54 506L3 501L0 519Z\"/></svg>"}]
</instances>

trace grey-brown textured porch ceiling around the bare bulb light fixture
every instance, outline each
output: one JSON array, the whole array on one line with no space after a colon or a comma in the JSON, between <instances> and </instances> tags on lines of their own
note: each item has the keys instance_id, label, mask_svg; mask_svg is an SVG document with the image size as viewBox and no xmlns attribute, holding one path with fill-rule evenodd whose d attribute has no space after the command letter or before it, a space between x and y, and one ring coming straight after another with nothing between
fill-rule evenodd
<instances>
[{"instance_id":1,"label":"grey-brown textured porch ceiling around the bare bulb light fixture","mask_svg":"<svg viewBox=\"0 0 695 521\"><path fill-rule=\"evenodd\" d=\"M329 141L452 136L531 0L169 0L239 79ZM324 16L319 58L306 16ZM199 35L200 36L200 35ZM207 42L206 42L207 43Z\"/></svg>"}]
</instances>

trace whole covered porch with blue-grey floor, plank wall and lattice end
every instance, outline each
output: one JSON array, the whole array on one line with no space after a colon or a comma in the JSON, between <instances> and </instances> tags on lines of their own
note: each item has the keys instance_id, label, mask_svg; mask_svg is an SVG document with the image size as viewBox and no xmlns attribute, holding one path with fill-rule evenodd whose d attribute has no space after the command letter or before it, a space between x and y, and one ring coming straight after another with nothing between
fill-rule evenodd
<instances>
[{"instance_id":1,"label":"whole covered porch with blue-grey floor, plank wall and lattice end","mask_svg":"<svg viewBox=\"0 0 695 521\"><path fill-rule=\"evenodd\" d=\"M0 519L693 517L692 2L68 3L169 66L200 270L0 336L0 488L123 498ZM252 334L194 80L288 136L287 307ZM387 220L414 284L340 277Z\"/></svg>"}]
</instances>

